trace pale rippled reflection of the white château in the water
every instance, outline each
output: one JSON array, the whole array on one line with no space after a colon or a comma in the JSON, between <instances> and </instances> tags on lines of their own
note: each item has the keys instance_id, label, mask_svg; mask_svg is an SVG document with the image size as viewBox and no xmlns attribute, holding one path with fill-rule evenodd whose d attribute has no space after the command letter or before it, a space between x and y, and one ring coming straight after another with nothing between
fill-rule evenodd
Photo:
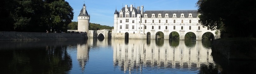
<instances>
[{"instance_id":1,"label":"pale rippled reflection of the white ch\u00e2teau in the water","mask_svg":"<svg viewBox=\"0 0 256 74\"><path fill-rule=\"evenodd\" d=\"M142 71L142 67L196 71L202 64L214 63L211 49L202 41L129 39L126 44L124 39L112 39L112 46L114 66L124 72Z\"/></svg>"}]
</instances>

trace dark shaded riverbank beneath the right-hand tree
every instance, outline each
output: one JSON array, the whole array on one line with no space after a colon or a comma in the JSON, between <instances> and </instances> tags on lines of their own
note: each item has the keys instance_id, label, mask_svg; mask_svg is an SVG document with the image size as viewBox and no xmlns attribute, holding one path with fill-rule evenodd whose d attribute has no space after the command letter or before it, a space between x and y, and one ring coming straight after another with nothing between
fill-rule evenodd
<instances>
[{"instance_id":1,"label":"dark shaded riverbank beneath the right-hand tree","mask_svg":"<svg viewBox=\"0 0 256 74\"><path fill-rule=\"evenodd\" d=\"M216 39L212 52L222 54L230 60L256 60L256 40L250 38Z\"/></svg>"}]
</instances>

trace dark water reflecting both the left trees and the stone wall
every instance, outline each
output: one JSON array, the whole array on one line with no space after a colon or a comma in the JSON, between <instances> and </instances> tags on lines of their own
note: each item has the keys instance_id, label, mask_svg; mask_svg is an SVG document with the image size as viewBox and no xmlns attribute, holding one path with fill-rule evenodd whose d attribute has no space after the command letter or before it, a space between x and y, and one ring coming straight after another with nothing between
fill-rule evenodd
<instances>
[{"instance_id":1,"label":"dark water reflecting both the left trees and the stone wall","mask_svg":"<svg viewBox=\"0 0 256 74\"><path fill-rule=\"evenodd\" d=\"M72 68L68 45L84 43L70 40L1 41L2 73L66 73ZM2 46L5 45L5 46Z\"/></svg>"}]
</instances>

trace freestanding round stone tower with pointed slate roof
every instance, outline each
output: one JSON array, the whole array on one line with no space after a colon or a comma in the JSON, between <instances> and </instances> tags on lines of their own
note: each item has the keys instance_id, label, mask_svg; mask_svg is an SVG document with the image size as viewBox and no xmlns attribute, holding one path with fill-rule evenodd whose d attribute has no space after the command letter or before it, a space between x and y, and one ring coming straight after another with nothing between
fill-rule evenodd
<instances>
[{"instance_id":1,"label":"freestanding round stone tower with pointed slate roof","mask_svg":"<svg viewBox=\"0 0 256 74\"><path fill-rule=\"evenodd\" d=\"M78 19L78 27L77 31L79 32L86 32L88 33L89 31L89 23L90 23L90 15L88 15L86 11L86 6L85 4L83 5L79 16L77 17Z\"/></svg>"}]
</instances>

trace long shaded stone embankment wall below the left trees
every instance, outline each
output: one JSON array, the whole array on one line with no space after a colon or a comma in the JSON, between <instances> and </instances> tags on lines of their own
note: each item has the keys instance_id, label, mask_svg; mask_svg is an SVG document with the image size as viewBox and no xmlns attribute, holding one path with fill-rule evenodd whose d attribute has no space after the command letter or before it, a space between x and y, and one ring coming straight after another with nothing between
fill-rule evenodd
<instances>
[{"instance_id":1,"label":"long shaded stone embankment wall below the left trees","mask_svg":"<svg viewBox=\"0 0 256 74\"><path fill-rule=\"evenodd\" d=\"M67 40L86 39L86 33L42 33L0 31L1 40Z\"/></svg>"}]
</instances>

